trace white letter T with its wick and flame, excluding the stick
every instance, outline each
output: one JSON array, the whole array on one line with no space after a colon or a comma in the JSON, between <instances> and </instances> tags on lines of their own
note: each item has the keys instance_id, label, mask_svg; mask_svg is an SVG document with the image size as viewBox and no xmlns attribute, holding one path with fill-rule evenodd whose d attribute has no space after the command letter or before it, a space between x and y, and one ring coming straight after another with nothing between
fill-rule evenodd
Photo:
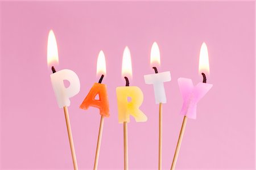
<instances>
[{"instance_id":1,"label":"white letter T with its wick and flame, excluding the stick","mask_svg":"<svg viewBox=\"0 0 256 170\"><path fill-rule=\"evenodd\" d=\"M164 82L171 81L171 73L170 71L165 71L162 73L158 73L156 67L156 63L160 65L160 52L158 48L158 44L154 42L151 48L150 55L151 66L155 69L155 74L144 75L144 80L146 84L153 84L154 92L155 92L155 103L166 103L166 92L164 90Z\"/></svg>"}]
</instances>

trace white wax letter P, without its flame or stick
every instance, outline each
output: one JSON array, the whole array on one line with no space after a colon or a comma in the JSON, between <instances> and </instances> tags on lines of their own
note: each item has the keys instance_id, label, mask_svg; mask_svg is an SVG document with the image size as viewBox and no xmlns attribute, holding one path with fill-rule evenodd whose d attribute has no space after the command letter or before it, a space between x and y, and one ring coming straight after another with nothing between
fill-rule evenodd
<instances>
[{"instance_id":1,"label":"white wax letter P, without its flame or stick","mask_svg":"<svg viewBox=\"0 0 256 170\"><path fill-rule=\"evenodd\" d=\"M65 87L64 80L69 81L68 87ZM72 70L64 69L51 74L51 82L59 108L69 106L69 98L80 91L79 77Z\"/></svg>"}]
</instances>

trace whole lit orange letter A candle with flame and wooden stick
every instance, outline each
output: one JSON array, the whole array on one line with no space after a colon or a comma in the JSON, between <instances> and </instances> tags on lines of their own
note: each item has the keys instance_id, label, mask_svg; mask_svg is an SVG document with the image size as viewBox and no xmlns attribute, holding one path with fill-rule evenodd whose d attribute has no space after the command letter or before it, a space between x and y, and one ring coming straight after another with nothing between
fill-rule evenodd
<instances>
[{"instance_id":1,"label":"whole lit orange letter A candle with flame and wooden stick","mask_svg":"<svg viewBox=\"0 0 256 170\"><path fill-rule=\"evenodd\" d=\"M90 89L89 94L85 97L84 101L80 105L81 109L87 110L89 107L96 107L100 109L101 121L100 121L100 129L98 130L98 141L96 148L96 155L94 159L94 170L98 168L98 157L100 155L100 147L101 147L101 137L104 125L104 117L109 117L109 100L108 93L106 90L106 84L101 84L104 75L106 75L106 61L105 55L101 50L98 54L97 59L97 74L101 74L101 78L98 83L94 83L93 87ZM95 99L98 95L99 99Z\"/></svg>"}]
</instances>

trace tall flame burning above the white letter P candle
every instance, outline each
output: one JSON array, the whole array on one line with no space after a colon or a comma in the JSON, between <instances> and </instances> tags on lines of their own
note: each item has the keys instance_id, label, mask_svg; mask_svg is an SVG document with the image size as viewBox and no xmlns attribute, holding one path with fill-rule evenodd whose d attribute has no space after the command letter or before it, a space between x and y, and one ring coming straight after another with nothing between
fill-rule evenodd
<instances>
[{"instance_id":1,"label":"tall flame burning above the white letter P candle","mask_svg":"<svg viewBox=\"0 0 256 170\"><path fill-rule=\"evenodd\" d=\"M48 35L47 64L48 66L59 64L57 41L52 29L49 31L49 35Z\"/></svg>"}]
</instances>

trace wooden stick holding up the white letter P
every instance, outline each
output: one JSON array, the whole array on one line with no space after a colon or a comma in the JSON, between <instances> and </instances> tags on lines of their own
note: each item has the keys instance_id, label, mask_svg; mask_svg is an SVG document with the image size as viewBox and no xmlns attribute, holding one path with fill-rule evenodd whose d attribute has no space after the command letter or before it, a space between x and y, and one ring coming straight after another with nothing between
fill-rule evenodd
<instances>
[{"instance_id":1,"label":"wooden stick holding up the white letter P","mask_svg":"<svg viewBox=\"0 0 256 170\"><path fill-rule=\"evenodd\" d=\"M72 132L71 132L71 126L70 126L70 121L69 121L69 116L68 116L68 107L64 107L64 113L65 113L65 120L67 124L67 129L68 129L68 139L69 139L69 145L71 148L71 154L72 154L72 160L73 160L73 166L75 170L78 170L77 167L77 162L76 162L76 153L75 153L75 147L73 143L73 137L72 137Z\"/></svg>"}]
</instances>

